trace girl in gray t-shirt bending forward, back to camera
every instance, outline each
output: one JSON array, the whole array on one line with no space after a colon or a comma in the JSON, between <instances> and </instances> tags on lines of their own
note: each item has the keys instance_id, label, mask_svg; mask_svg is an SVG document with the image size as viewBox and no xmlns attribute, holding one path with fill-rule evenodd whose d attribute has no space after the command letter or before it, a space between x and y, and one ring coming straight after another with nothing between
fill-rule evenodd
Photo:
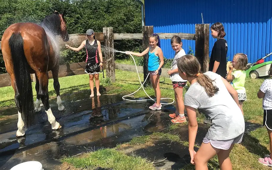
<instances>
[{"instance_id":1,"label":"girl in gray t-shirt bending forward, back to camera","mask_svg":"<svg viewBox=\"0 0 272 170\"><path fill-rule=\"evenodd\" d=\"M217 154L220 168L232 169L229 154L234 144L242 141L245 130L236 90L216 73L209 71L200 74L200 64L192 55L178 59L178 71L181 78L191 84L184 95L189 119L191 163L195 164L196 170L208 169L208 161ZM197 152L194 151L197 135L196 109L211 119L211 127Z\"/></svg>"}]
</instances>

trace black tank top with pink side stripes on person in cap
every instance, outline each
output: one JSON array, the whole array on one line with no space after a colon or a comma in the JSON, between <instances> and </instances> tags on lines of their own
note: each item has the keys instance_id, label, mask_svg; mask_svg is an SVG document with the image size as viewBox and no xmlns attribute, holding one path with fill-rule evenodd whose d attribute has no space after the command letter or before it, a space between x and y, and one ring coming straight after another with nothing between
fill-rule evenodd
<instances>
[{"instance_id":1,"label":"black tank top with pink side stripes on person in cap","mask_svg":"<svg viewBox=\"0 0 272 170\"><path fill-rule=\"evenodd\" d=\"M89 44L89 41L86 40L86 62L87 63L98 63L99 59L97 57L98 55L98 45L97 40L94 40L94 44Z\"/></svg>"}]
</instances>

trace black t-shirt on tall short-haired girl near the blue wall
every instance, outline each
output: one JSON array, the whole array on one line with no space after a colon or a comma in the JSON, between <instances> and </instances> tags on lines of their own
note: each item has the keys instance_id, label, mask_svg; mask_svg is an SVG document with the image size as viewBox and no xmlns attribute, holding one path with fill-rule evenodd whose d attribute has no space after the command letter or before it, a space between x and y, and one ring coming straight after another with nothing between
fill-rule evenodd
<instances>
[{"instance_id":1,"label":"black t-shirt on tall short-haired girl near the blue wall","mask_svg":"<svg viewBox=\"0 0 272 170\"><path fill-rule=\"evenodd\" d=\"M214 43L214 47L211 51L209 63L209 71L213 71L214 61L220 62L216 73L221 75L223 78L226 78L227 75L227 51L227 41L223 38L218 39Z\"/></svg>"}]
</instances>

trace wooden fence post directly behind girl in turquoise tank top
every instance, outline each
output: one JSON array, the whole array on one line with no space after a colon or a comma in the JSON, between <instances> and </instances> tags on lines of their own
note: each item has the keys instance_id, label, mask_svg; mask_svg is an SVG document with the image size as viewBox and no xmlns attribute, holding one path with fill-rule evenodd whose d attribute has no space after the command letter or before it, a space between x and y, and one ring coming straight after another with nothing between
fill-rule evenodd
<instances>
[{"instance_id":1,"label":"wooden fence post directly behind girl in turquoise tank top","mask_svg":"<svg viewBox=\"0 0 272 170\"><path fill-rule=\"evenodd\" d=\"M143 26L143 50L149 47L149 37L153 34L153 26ZM148 75L148 53L143 57L143 77ZM144 86L151 86L150 79L146 80Z\"/></svg>"}]
</instances>

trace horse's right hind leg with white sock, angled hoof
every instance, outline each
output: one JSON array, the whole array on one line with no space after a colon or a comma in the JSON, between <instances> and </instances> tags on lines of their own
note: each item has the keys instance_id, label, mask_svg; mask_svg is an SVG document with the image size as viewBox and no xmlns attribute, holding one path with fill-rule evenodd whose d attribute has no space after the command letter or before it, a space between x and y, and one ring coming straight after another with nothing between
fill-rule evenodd
<instances>
[{"instance_id":1,"label":"horse's right hind leg with white sock, angled hoof","mask_svg":"<svg viewBox=\"0 0 272 170\"><path fill-rule=\"evenodd\" d=\"M51 124L52 129L59 129L61 125L56 121L55 116L53 115L51 108L49 106L49 96L48 96L48 74L47 73L37 73L39 79L39 93L42 103L45 108L45 112L48 116L48 121Z\"/></svg>"}]
</instances>

